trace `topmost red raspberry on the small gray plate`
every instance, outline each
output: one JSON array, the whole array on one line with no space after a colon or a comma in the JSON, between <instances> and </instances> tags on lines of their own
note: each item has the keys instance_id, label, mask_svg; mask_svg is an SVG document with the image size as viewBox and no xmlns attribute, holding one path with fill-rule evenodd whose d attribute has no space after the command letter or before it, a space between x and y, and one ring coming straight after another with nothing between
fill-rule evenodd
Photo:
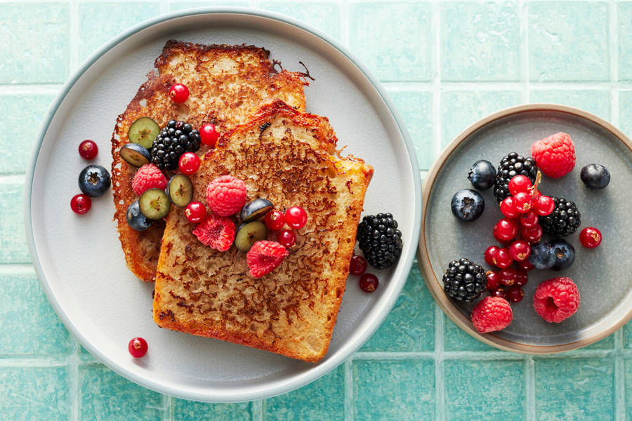
<instances>
[{"instance_id":1,"label":"topmost red raspberry on the small gray plate","mask_svg":"<svg viewBox=\"0 0 632 421\"><path fill-rule=\"evenodd\" d=\"M570 173L575 166L575 147L566 133L555 133L531 145L531 155L542 172L552 178Z\"/></svg>"}]
</instances>

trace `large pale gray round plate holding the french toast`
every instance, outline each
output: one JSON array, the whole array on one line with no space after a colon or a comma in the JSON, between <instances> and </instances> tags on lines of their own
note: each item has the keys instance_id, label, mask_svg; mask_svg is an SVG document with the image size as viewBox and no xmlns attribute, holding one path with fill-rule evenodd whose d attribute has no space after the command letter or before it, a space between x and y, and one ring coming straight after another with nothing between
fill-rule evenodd
<instances>
[{"instance_id":1,"label":"large pale gray round plate holding the french toast","mask_svg":"<svg viewBox=\"0 0 632 421\"><path fill-rule=\"evenodd\" d=\"M152 285L126 268L112 215L112 195L74 215L70 198L86 165L77 145L96 140L96 163L110 168L119 113L153 69L169 39L255 44L285 68L307 65L310 112L329 117L339 145L375 168L367 213L390 211L404 237L396 267L379 271L381 288L363 293L351 278L327 356L318 364L160 329L152 321ZM94 356L150 389L199 401L247 401L288 392L332 370L386 317L412 265L421 219L419 171L404 124L367 69L328 36L281 15L242 8L197 9L150 20L114 39L66 84L34 149L25 197L29 249L39 279L72 333ZM143 336L150 351L135 360L127 342Z\"/></svg>"}]
</instances>

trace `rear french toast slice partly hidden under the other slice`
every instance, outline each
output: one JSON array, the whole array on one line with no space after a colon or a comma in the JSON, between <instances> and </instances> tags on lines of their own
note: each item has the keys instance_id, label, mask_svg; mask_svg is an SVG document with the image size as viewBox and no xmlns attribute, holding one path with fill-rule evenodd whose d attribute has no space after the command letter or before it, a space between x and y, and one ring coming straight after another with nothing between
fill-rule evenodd
<instances>
[{"instance_id":1,"label":"rear french toast slice partly hidden under the other slice","mask_svg":"<svg viewBox=\"0 0 632 421\"><path fill-rule=\"evenodd\" d=\"M161 127L176 119L188 121L194 128L214 123L223 132L244 123L262 102L277 98L303 111L303 86L307 84L303 74L277 72L268 55L268 51L255 46L167 41L155 62L157 72L147 74L147 81L119 115L112 134L114 220L127 267L139 279L154 280L164 222L154 221L143 232L135 231L126 222L127 208L138 199L131 187L136 168L119 155L119 149L129 142L129 126L148 116ZM189 88L190 96L185 102L177 104L169 98L173 83L184 83ZM202 147L198 153L207 149Z\"/></svg>"}]
</instances>

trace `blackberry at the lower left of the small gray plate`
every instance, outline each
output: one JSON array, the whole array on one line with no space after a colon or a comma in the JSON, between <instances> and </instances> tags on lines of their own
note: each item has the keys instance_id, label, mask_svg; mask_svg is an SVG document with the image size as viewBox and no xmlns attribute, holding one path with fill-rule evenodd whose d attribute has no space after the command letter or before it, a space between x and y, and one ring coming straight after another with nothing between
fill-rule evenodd
<instances>
[{"instance_id":1,"label":"blackberry at the lower left of the small gray plate","mask_svg":"<svg viewBox=\"0 0 632 421\"><path fill-rule=\"evenodd\" d=\"M487 285L485 269L463 258L452 260L443 275L443 289L449 298L470 302L480 296Z\"/></svg>"}]
</instances>

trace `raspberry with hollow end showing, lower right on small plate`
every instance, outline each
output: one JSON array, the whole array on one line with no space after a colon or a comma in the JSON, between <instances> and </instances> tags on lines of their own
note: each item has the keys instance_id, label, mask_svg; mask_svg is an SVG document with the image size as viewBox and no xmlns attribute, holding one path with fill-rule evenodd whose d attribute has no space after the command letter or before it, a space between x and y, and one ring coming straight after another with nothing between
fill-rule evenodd
<instances>
[{"instance_id":1,"label":"raspberry with hollow end showing, lower right on small plate","mask_svg":"<svg viewBox=\"0 0 632 421\"><path fill-rule=\"evenodd\" d=\"M533 308L549 323L560 323L568 319L579 308L577 285L564 276L547 279L536 288Z\"/></svg>"}]
</instances>

